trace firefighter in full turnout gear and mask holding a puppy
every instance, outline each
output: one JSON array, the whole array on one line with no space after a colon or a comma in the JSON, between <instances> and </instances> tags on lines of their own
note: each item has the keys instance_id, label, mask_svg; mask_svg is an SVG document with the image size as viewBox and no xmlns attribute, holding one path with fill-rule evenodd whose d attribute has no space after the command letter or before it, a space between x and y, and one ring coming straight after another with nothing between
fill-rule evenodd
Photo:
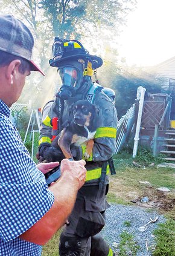
<instances>
[{"instance_id":1,"label":"firefighter in full turnout gear and mask holding a puppy","mask_svg":"<svg viewBox=\"0 0 175 256\"><path fill-rule=\"evenodd\" d=\"M86 161L86 182L78 191L69 225L60 236L60 256L115 255L100 235L105 225L105 211L109 208L106 194L109 187L109 159L115 152L116 110L103 87L92 82L93 70L100 67L100 57L89 54L79 41L55 38L52 46L51 67L56 67L62 79L62 87L42 122L39 137L39 155L48 161L64 158L62 151L51 146L52 136L63 130L65 121L71 118L72 103L85 99L99 109L99 127L95 133L94 147ZM57 134L52 131L52 119L58 117ZM71 145L74 160L83 159L85 145Z\"/></svg>"}]
</instances>

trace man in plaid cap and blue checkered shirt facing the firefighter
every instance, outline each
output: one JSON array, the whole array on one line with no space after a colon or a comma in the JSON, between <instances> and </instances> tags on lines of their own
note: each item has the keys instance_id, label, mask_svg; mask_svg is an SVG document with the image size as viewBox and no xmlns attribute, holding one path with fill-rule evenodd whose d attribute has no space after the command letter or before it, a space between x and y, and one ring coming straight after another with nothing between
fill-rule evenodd
<instances>
[{"instance_id":1,"label":"man in plaid cap and blue checkered shirt facing the firefighter","mask_svg":"<svg viewBox=\"0 0 175 256\"><path fill-rule=\"evenodd\" d=\"M84 160L63 160L59 182L48 189L43 173L59 165L36 166L9 120L33 61L28 28L10 15L0 16L0 255L40 256L42 246L65 223L86 179ZM42 73L43 74L43 73ZM43 173L42 173L43 172Z\"/></svg>"}]
</instances>

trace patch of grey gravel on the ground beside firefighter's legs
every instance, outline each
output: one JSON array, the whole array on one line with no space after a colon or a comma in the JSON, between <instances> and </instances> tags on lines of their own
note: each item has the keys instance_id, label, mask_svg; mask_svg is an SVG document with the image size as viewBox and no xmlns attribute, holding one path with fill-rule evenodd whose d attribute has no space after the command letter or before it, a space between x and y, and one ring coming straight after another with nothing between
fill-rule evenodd
<instances>
[{"instance_id":1,"label":"patch of grey gravel on the ground beside firefighter's legs","mask_svg":"<svg viewBox=\"0 0 175 256\"><path fill-rule=\"evenodd\" d=\"M148 229L145 232L138 231L140 226L150 222L150 218L154 220L156 217L158 217L158 221L148 225ZM106 211L106 226L101 231L101 234L112 250L117 253L116 245L119 245L120 234L123 231L127 231L133 235L134 240L140 246L136 256L148 256L151 255L151 250L147 252L146 240L148 239L148 247L153 246L155 243L153 231L158 228L159 223L164 223L165 221L165 217L156 211L148 211L145 208L136 206L111 205ZM129 222L130 227L125 226L124 222Z\"/></svg>"}]
</instances>

